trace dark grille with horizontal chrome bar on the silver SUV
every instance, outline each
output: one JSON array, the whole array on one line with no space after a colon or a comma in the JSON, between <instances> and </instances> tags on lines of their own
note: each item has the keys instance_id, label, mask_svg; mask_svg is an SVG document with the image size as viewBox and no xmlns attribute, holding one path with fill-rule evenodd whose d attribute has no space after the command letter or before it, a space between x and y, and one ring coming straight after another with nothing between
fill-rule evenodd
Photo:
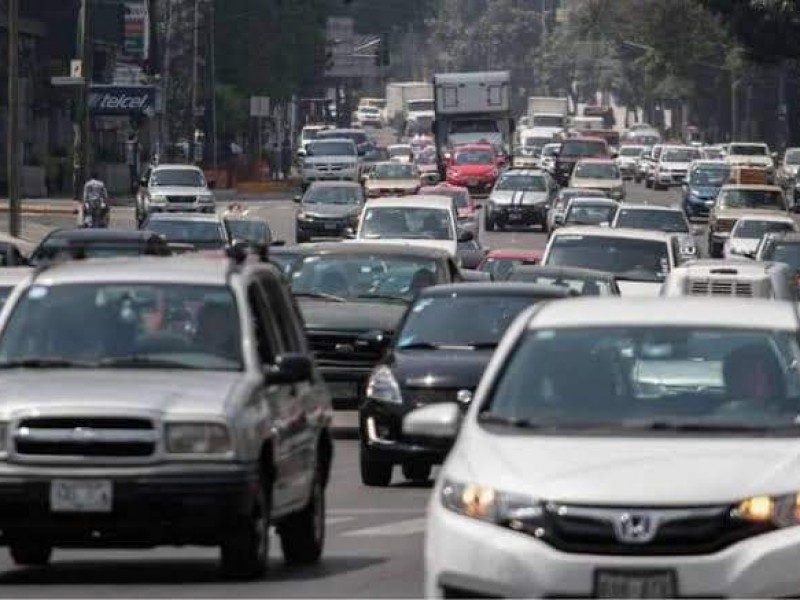
<instances>
[{"instance_id":1,"label":"dark grille with horizontal chrome bar on the silver SUV","mask_svg":"<svg viewBox=\"0 0 800 600\"><path fill-rule=\"evenodd\" d=\"M19 457L148 457L158 433L152 421L132 417L35 417L13 434Z\"/></svg>"}]
</instances>

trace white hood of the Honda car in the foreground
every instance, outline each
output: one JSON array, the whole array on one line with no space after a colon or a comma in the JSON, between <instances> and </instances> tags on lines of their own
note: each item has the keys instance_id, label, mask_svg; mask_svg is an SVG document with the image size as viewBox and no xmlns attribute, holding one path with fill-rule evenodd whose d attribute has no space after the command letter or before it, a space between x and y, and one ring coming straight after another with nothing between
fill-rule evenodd
<instances>
[{"instance_id":1,"label":"white hood of the Honda car in the foreground","mask_svg":"<svg viewBox=\"0 0 800 600\"><path fill-rule=\"evenodd\" d=\"M796 438L538 437L492 435L478 427L470 433L469 446L459 448L466 472L453 476L535 499L703 506L800 489Z\"/></svg>"}]
</instances>

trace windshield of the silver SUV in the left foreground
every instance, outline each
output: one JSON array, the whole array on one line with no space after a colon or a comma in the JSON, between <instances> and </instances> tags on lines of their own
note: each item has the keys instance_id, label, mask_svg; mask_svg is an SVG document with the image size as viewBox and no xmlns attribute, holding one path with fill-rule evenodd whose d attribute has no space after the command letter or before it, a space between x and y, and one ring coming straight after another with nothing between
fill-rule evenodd
<instances>
[{"instance_id":1,"label":"windshield of the silver SUV in the left foreground","mask_svg":"<svg viewBox=\"0 0 800 600\"><path fill-rule=\"evenodd\" d=\"M33 285L0 337L0 367L25 361L91 367L242 369L236 300L225 286Z\"/></svg>"}]
</instances>

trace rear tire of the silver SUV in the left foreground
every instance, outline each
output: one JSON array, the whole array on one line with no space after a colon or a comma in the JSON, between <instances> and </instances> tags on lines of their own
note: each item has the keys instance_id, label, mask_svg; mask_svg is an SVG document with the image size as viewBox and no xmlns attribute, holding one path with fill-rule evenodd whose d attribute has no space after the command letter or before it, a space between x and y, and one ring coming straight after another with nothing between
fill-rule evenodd
<instances>
[{"instance_id":1,"label":"rear tire of the silver SUV in the left foreground","mask_svg":"<svg viewBox=\"0 0 800 600\"><path fill-rule=\"evenodd\" d=\"M311 498L303 510L289 515L278 527L283 558L289 565L310 565L325 547L325 486L319 472L314 477Z\"/></svg>"}]
</instances>

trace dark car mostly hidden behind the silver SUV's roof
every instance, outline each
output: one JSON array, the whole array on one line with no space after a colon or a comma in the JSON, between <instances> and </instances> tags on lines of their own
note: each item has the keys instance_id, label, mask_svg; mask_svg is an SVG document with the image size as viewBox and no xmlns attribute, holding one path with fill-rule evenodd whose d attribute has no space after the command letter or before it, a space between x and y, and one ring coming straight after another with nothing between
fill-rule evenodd
<instances>
[{"instance_id":1,"label":"dark car mostly hidden behind the silver SUV's roof","mask_svg":"<svg viewBox=\"0 0 800 600\"><path fill-rule=\"evenodd\" d=\"M57 260L171 254L164 236L147 229L54 229L39 242L29 263L39 266Z\"/></svg>"}]
</instances>

